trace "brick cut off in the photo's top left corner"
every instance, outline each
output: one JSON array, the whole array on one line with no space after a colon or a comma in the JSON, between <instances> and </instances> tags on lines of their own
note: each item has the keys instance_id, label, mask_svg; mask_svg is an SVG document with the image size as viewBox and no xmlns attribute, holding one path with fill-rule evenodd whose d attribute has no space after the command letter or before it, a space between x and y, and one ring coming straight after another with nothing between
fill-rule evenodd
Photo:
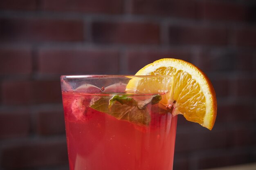
<instances>
[{"instance_id":1,"label":"brick cut off in the photo's top left corner","mask_svg":"<svg viewBox=\"0 0 256 170\"><path fill-rule=\"evenodd\" d=\"M34 11L37 8L36 4L36 0L2 0L0 1L0 9Z\"/></svg>"}]
</instances>

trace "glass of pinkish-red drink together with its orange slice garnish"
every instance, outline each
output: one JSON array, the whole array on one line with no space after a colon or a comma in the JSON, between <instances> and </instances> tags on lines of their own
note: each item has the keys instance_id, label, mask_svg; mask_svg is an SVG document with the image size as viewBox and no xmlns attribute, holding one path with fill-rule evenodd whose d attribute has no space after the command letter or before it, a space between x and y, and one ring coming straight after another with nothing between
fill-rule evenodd
<instances>
[{"instance_id":1,"label":"glass of pinkish-red drink together with its orange slice garnish","mask_svg":"<svg viewBox=\"0 0 256 170\"><path fill-rule=\"evenodd\" d=\"M172 170L177 115L211 130L217 101L199 68L161 59L135 76L61 76L70 170Z\"/></svg>"}]
</instances>

